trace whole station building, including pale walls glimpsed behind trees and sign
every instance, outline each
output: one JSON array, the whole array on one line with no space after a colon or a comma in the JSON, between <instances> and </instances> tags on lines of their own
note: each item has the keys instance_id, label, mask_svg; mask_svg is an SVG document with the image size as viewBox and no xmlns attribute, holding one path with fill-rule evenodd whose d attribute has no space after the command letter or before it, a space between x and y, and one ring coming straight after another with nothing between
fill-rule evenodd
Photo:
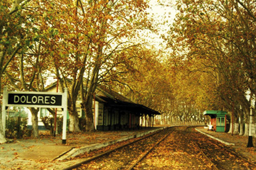
<instances>
[{"instance_id":1,"label":"whole station building, including pale walls glimpsed behind trees and sign","mask_svg":"<svg viewBox=\"0 0 256 170\"><path fill-rule=\"evenodd\" d=\"M47 92L56 93L57 83L46 87ZM58 89L60 91L60 89ZM84 111L81 108L81 99L76 101L78 116L84 118ZM96 130L122 130L136 129L144 126L151 127L154 124L154 116L160 115L144 105L136 104L130 99L112 91L111 89L99 86L96 89L92 102L94 115L94 128ZM41 108L38 113L38 128L45 129L42 117L51 116L46 108ZM57 116L62 116L62 110L57 110ZM31 113L28 114L28 126L32 126Z\"/></svg>"}]
</instances>

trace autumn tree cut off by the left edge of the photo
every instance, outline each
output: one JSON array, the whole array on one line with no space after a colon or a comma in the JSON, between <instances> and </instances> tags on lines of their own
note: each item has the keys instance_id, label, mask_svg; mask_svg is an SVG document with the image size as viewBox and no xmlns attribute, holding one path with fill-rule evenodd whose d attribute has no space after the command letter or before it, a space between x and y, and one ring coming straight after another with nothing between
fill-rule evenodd
<instances>
[{"instance_id":1,"label":"autumn tree cut off by the left edge of the photo","mask_svg":"<svg viewBox=\"0 0 256 170\"><path fill-rule=\"evenodd\" d=\"M2 92L2 78L9 63L22 48L28 46L24 26L30 18L25 12L26 4L30 0L1 1L0 2L0 91ZM1 107L2 108L2 107ZM1 111L2 115L2 111ZM2 116L0 116L2 120ZM0 142L5 142L0 121Z\"/></svg>"}]
</instances>

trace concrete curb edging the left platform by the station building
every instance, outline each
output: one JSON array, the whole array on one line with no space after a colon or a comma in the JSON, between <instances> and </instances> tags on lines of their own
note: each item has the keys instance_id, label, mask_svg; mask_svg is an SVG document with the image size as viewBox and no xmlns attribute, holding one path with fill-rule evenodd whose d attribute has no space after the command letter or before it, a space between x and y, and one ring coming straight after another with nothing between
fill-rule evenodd
<instances>
[{"instance_id":1,"label":"concrete curb edging the left platform by the station building","mask_svg":"<svg viewBox=\"0 0 256 170\"><path fill-rule=\"evenodd\" d=\"M168 127L161 127L161 128L157 128L157 129L154 129L154 130L149 130L149 131L146 131L146 132L142 132L142 133L138 133L138 134L122 137L122 138L119 138L119 139L116 139L116 140L110 140L110 141L103 142L103 143L90 144L88 146L82 146L80 148L72 148L67 153L57 156L56 158L54 158L54 160L65 160L66 158L69 158L69 157L74 157L74 156L77 156L79 154L90 152L91 150L96 150L98 148L102 148L104 146L108 146L110 144L121 142L123 140L128 140L130 138L138 138L138 137L144 136L146 134L149 134L149 133L152 133L152 132L156 132L158 130L162 130L164 128L168 128Z\"/></svg>"}]
</instances>

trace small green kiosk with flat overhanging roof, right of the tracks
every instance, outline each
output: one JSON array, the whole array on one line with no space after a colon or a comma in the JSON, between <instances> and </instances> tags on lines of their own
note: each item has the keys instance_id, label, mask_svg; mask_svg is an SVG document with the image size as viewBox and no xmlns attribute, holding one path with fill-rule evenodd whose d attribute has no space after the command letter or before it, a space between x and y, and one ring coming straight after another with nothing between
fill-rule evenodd
<instances>
[{"instance_id":1,"label":"small green kiosk with flat overhanging roof, right of the tracks","mask_svg":"<svg viewBox=\"0 0 256 170\"><path fill-rule=\"evenodd\" d=\"M225 132L226 130L226 115L225 111L204 111L204 115L211 117L210 125L212 130L216 132Z\"/></svg>"}]
</instances>

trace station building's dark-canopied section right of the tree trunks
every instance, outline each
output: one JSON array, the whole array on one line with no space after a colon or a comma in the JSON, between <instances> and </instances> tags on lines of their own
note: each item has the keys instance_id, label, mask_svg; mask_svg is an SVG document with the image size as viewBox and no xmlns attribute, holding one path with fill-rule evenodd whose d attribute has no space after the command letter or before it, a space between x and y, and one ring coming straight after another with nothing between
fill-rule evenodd
<instances>
[{"instance_id":1,"label":"station building's dark-canopied section right of the tree trunks","mask_svg":"<svg viewBox=\"0 0 256 170\"><path fill-rule=\"evenodd\" d=\"M140 128L142 121L146 121L143 117L146 117L148 122L144 125L153 126L154 116L160 115L159 112L136 104L110 89L98 87L97 91L94 114L97 130Z\"/></svg>"}]
</instances>

